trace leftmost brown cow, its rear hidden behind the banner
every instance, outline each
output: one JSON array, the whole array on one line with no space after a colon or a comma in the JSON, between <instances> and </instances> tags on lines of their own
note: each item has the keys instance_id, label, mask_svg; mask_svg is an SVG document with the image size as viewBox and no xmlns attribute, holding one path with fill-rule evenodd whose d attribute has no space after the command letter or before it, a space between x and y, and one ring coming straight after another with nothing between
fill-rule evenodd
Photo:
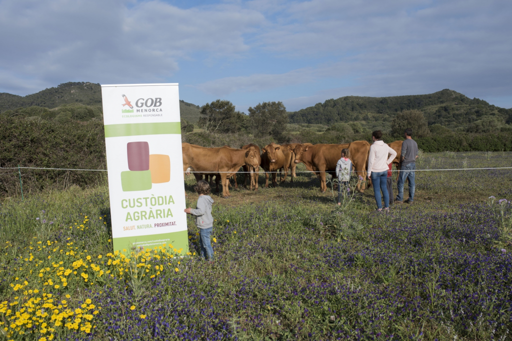
<instances>
[{"instance_id":1,"label":"leftmost brown cow, its rear hidden behind the banner","mask_svg":"<svg viewBox=\"0 0 512 341\"><path fill-rule=\"evenodd\" d=\"M219 174L222 181L222 194L229 197L229 178L236 174L242 165L258 167L258 153L253 147L247 150L229 147L205 148L182 143L183 171L187 168L198 173Z\"/></svg>"}]
</instances>

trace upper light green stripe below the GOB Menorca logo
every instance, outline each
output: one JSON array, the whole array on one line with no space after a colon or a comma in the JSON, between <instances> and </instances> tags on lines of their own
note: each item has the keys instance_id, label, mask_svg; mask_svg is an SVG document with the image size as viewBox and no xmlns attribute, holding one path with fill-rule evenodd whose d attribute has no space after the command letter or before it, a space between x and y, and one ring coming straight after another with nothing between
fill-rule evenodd
<instances>
[{"instance_id":1,"label":"upper light green stripe below the GOB Menorca logo","mask_svg":"<svg viewBox=\"0 0 512 341\"><path fill-rule=\"evenodd\" d=\"M105 124L105 138L180 133L180 122Z\"/></svg>"}]
</instances>

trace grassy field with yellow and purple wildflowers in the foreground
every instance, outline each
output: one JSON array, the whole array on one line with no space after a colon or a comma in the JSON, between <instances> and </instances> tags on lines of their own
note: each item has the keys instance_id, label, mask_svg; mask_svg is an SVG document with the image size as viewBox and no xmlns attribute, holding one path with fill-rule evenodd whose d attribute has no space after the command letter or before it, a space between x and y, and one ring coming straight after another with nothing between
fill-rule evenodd
<instances>
[{"instance_id":1,"label":"grassy field with yellow and purple wildflowers in the foreground","mask_svg":"<svg viewBox=\"0 0 512 341\"><path fill-rule=\"evenodd\" d=\"M417 168L509 167L511 158L421 154ZM214 264L199 260L190 217L189 257L116 253L106 187L4 200L1 337L512 338L512 170L418 172L414 204L387 214L375 212L372 188L338 209L316 176L298 175L212 195ZM194 184L186 178L188 206Z\"/></svg>"}]
</instances>

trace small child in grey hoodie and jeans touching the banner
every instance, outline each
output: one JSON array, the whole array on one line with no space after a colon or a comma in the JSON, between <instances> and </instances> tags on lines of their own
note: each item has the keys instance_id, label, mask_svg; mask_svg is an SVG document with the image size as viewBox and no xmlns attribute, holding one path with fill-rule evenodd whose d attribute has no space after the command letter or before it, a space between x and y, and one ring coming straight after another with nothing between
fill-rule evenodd
<instances>
[{"instance_id":1,"label":"small child in grey hoodie and jeans touching the banner","mask_svg":"<svg viewBox=\"0 0 512 341\"><path fill-rule=\"evenodd\" d=\"M213 261L214 249L211 247L211 234L214 232L214 217L211 216L211 204L214 203L214 199L206 195L210 193L210 185L207 181L198 181L194 189L199 194L196 209L185 209L185 213L196 216L196 225L199 229L201 258Z\"/></svg>"}]
</instances>

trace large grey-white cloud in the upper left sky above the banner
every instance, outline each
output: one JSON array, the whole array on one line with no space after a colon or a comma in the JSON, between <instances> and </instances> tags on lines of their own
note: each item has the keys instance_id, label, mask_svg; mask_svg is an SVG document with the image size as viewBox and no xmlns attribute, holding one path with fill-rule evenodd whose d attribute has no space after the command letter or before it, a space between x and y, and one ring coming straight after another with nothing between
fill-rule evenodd
<instances>
[{"instance_id":1,"label":"large grey-white cloud in the upper left sky above the banner","mask_svg":"<svg viewBox=\"0 0 512 341\"><path fill-rule=\"evenodd\" d=\"M7 78L61 81L163 81L178 60L202 52L221 58L245 53L243 35L264 20L234 5L179 9L159 1L0 3L0 54ZM6 66L8 65L8 67ZM0 88L13 88L1 81ZM25 91L32 91L27 84Z\"/></svg>"}]
</instances>

